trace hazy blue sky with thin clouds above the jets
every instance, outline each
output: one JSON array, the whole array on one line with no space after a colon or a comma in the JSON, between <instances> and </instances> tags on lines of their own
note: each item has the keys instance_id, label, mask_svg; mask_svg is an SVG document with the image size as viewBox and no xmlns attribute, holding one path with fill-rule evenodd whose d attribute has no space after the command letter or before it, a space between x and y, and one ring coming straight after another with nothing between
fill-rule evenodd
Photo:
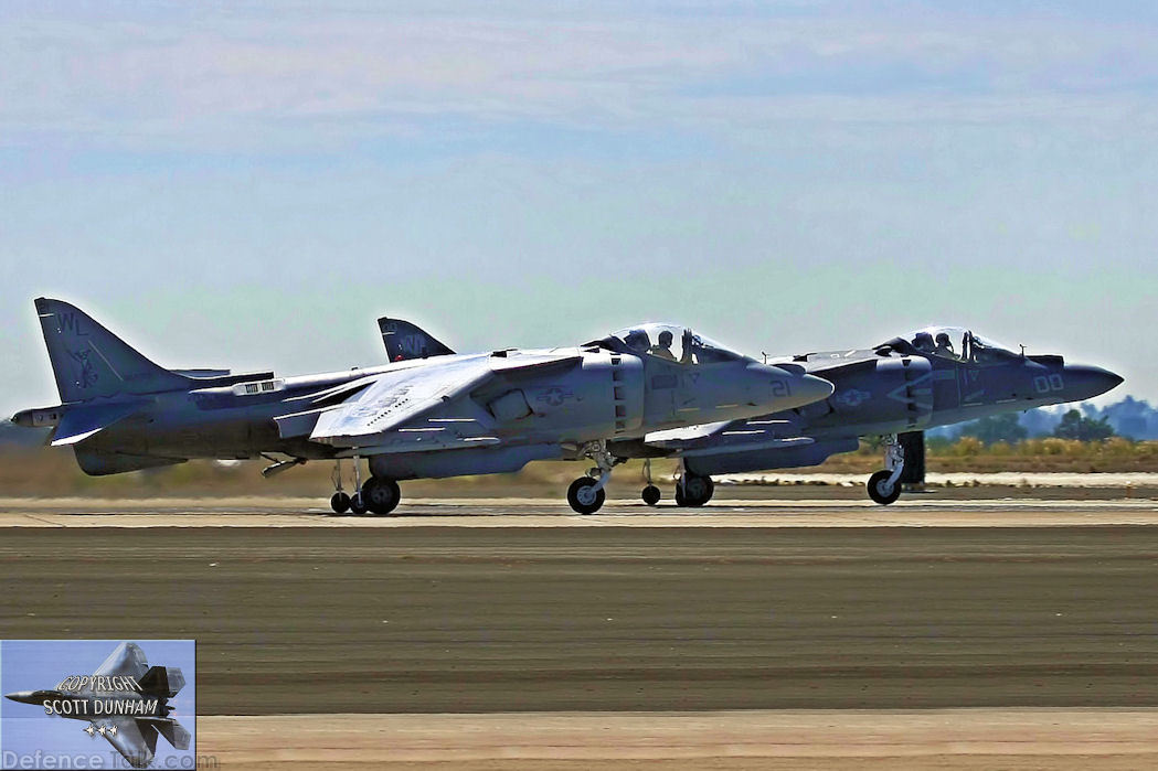
<instances>
[{"instance_id":1,"label":"hazy blue sky with thin clouds above the jets","mask_svg":"<svg viewBox=\"0 0 1158 771\"><path fill-rule=\"evenodd\" d=\"M1158 397L1145 3L5 2L0 61L6 412L37 294L173 367L940 322Z\"/></svg>"}]
</instances>

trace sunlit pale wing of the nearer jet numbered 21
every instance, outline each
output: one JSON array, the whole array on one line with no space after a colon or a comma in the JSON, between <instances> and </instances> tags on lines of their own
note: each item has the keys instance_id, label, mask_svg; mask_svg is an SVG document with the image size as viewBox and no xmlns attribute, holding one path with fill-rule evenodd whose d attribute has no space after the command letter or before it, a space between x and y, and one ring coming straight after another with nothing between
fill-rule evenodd
<instances>
[{"instance_id":1,"label":"sunlit pale wing of the nearer jet numbered 21","mask_svg":"<svg viewBox=\"0 0 1158 771\"><path fill-rule=\"evenodd\" d=\"M578 355L501 352L387 370L323 412L310 439L366 455L497 445L494 412L469 394L491 380L515 383L521 374L579 361Z\"/></svg>"}]
</instances>

